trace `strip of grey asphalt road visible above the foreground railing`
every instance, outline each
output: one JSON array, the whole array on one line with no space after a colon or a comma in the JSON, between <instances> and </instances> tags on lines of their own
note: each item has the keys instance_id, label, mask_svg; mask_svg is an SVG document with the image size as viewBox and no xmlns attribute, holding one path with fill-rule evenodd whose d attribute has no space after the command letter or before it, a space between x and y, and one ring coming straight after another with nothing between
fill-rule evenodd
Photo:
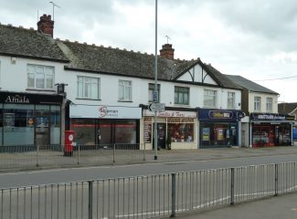
<instances>
[{"instance_id":1,"label":"strip of grey asphalt road visible above the foreground railing","mask_svg":"<svg viewBox=\"0 0 297 219\"><path fill-rule=\"evenodd\" d=\"M221 160L188 162L148 162L122 166L99 166L44 170L35 172L10 172L0 174L0 188L28 185L69 183L96 179L118 178L124 176L149 175L167 172L186 172L196 170L239 167L279 162L297 162L297 154L282 154Z\"/></svg>"}]
</instances>

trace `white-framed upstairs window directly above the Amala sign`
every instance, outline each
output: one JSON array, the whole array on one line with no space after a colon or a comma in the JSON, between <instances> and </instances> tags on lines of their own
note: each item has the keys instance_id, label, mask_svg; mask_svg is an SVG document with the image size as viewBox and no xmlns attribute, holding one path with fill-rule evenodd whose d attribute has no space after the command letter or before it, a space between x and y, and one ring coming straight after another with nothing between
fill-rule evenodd
<instances>
[{"instance_id":1,"label":"white-framed upstairs window directly above the Amala sign","mask_svg":"<svg viewBox=\"0 0 297 219\"><path fill-rule=\"evenodd\" d=\"M39 65L27 65L28 89L54 89L55 68Z\"/></svg>"}]
</instances>

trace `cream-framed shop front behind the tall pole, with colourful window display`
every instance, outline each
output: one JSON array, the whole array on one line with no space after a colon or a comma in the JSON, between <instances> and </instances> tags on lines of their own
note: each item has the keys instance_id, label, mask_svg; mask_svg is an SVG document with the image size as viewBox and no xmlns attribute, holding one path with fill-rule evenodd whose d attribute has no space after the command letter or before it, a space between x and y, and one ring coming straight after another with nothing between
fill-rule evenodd
<instances>
[{"instance_id":1,"label":"cream-framed shop front behind the tall pole, with colourful window display","mask_svg":"<svg viewBox=\"0 0 297 219\"><path fill-rule=\"evenodd\" d=\"M196 149L196 111L165 110L157 112L159 149ZM145 149L154 149L154 112L143 110L142 141Z\"/></svg>"}]
</instances>

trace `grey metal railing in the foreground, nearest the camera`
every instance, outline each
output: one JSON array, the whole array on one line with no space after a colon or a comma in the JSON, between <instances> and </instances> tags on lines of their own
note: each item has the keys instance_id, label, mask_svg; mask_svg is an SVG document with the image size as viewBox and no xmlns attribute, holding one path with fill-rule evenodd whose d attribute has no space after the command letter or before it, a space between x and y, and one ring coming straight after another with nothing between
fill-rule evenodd
<instances>
[{"instance_id":1,"label":"grey metal railing in the foreground, nearest the camera","mask_svg":"<svg viewBox=\"0 0 297 219\"><path fill-rule=\"evenodd\" d=\"M155 218L296 190L297 162L0 190L0 219Z\"/></svg>"}]
</instances>

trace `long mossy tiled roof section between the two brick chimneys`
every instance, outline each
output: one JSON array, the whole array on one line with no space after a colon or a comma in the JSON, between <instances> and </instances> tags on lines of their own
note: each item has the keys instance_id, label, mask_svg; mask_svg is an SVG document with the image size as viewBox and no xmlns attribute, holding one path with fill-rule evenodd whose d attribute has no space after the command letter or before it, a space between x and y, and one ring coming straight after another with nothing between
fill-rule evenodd
<instances>
[{"instance_id":1,"label":"long mossy tiled roof section between the two brick chimneys","mask_svg":"<svg viewBox=\"0 0 297 219\"><path fill-rule=\"evenodd\" d=\"M70 63L67 68L154 78L154 55L69 41L60 41L58 45L69 57ZM158 57L158 78L173 78L175 67L178 65L174 60Z\"/></svg>"}]
</instances>

